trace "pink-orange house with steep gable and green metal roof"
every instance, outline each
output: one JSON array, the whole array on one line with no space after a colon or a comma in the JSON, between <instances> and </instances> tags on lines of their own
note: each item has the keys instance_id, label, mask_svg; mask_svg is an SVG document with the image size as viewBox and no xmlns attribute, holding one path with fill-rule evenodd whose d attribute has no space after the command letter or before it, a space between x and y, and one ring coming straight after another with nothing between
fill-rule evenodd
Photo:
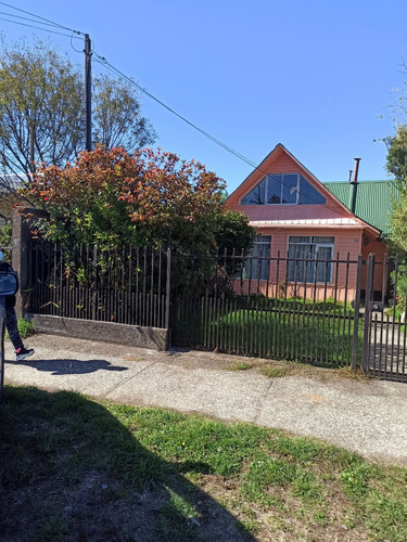
<instances>
[{"instance_id":1,"label":"pink-orange house with steep gable and green metal roof","mask_svg":"<svg viewBox=\"0 0 407 542\"><path fill-rule=\"evenodd\" d=\"M246 272L246 282L257 281L257 293L268 295L270 284L277 292L282 282L288 295L307 296L313 285L319 298L352 300L357 268L346 261L373 253L383 262L391 182L358 183L358 165L356 158L352 182L322 184L278 144L228 197L226 205L247 215L258 232L253 255L259 264ZM382 285L383 273L376 273L373 288Z\"/></svg>"}]
</instances>

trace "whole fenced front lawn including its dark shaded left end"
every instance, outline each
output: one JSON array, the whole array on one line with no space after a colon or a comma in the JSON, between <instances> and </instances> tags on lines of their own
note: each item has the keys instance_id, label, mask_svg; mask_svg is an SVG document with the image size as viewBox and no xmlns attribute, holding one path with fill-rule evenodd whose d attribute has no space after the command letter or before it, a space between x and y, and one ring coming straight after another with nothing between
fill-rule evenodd
<instances>
[{"instance_id":1,"label":"whole fenced front lawn including its dark shaded left end","mask_svg":"<svg viewBox=\"0 0 407 542\"><path fill-rule=\"evenodd\" d=\"M178 300L171 322L175 346L193 346L240 356L301 361L320 366L352 363L354 310L328 300L262 299L239 307L237 300ZM363 324L358 325L358 359Z\"/></svg>"}]
</instances>

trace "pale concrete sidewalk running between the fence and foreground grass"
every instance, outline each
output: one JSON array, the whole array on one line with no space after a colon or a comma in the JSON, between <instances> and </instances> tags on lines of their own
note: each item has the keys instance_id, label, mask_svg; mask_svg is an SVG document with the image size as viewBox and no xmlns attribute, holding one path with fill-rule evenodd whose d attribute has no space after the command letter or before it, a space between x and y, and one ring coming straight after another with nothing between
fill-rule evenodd
<instances>
[{"instance_id":1,"label":"pale concrete sidewalk running between the fence and foreground grass","mask_svg":"<svg viewBox=\"0 0 407 542\"><path fill-rule=\"evenodd\" d=\"M236 363L231 356L157 352L43 334L27 339L26 346L36 354L20 363L8 361L5 384L251 422L407 466L403 384L267 378L255 370L225 370ZM14 360L10 344L5 358Z\"/></svg>"}]
</instances>

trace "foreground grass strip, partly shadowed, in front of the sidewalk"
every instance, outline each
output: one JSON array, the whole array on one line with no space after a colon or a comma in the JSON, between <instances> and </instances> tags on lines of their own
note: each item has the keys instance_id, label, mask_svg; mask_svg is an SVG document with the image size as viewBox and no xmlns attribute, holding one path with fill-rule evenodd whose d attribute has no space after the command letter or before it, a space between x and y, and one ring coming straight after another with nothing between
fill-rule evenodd
<instances>
[{"instance_id":1,"label":"foreground grass strip, partly shadowed, in front of the sidewalk","mask_svg":"<svg viewBox=\"0 0 407 542\"><path fill-rule=\"evenodd\" d=\"M407 469L249 424L5 387L7 541L406 541Z\"/></svg>"}]
</instances>

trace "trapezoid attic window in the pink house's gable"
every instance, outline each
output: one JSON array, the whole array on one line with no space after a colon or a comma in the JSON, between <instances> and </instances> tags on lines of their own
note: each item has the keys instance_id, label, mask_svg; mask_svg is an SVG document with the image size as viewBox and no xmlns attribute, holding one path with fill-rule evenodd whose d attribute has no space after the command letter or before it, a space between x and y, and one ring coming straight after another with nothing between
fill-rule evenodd
<instances>
[{"instance_id":1,"label":"trapezoid attic window in the pink house's gable","mask_svg":"<svg viewBox=\"0 0 407 542\"><path fill-rule=\"evenodd\" d=\"M325 205L327 199L300 173L267 175L241 205Z\"/></svg>"}]
</instances>

